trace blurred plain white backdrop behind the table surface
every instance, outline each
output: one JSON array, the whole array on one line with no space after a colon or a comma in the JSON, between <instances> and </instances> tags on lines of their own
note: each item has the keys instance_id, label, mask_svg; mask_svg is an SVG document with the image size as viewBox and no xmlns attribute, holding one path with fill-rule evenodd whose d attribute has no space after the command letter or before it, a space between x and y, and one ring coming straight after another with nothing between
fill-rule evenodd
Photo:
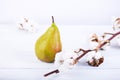
<instances>
[{"instance_id":1,"label":"blurred plain white backdrop behind the table surface","mask_svg":"<svg viewBox=\"0 0 120 80\"><path fill-rule=\"evenodd\" d=\"M120 17L120 0L0 0L0 23L27 16L39 24L110 25Z\"/></svg>"}]
</instances>

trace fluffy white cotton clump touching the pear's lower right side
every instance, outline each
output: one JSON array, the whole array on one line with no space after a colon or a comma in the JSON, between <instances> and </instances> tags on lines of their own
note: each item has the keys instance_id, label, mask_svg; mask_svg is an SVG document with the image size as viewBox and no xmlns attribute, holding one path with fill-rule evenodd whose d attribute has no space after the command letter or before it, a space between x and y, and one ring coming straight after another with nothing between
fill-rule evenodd
<instances>
[{"instance_id":1,"label":"fluffy white cotton clump touching the pear's lower right side","mask_svg":"<svg viewBox=\"0 0 120 80\"><path fill-rule=\"evenodd\" d=\"M75 59L78 57L73 51L60 52L55 56L55 66L59 67L59 71L66 71L74 67Z\"/></svg>"}]
</instances>

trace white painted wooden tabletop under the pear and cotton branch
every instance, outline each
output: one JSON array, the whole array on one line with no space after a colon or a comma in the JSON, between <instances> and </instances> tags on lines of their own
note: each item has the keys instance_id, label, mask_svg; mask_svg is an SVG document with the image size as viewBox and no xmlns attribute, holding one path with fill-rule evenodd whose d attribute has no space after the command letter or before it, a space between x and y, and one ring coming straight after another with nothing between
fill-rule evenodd
<instances>
[{"instance_id":1,"label":"white painted wooden tabletop under the pear and cotton branch","mask_svg":"<svg viewBox=\"0 0 120 80\"><path fill-rule=\"evenodd\" d=\"M99 67L88 66L83 57L72 70L52 75L43 74L56 69L53 63L44 63L35 56L37 38L50 25L40 25L35 33L21 31L16 25L0 25L0 80L120 80L120 47L116 41L102 51L105 61ZM58 25L63 51L88 49L90 34L113 32L111 25Z\"/></svg>"}]
</instances>

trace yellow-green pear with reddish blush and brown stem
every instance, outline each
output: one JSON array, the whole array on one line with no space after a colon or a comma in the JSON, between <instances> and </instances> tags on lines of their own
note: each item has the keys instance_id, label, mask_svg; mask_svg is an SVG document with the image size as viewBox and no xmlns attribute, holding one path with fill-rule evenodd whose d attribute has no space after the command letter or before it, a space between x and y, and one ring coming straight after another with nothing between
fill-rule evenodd
<instances>
[{"instance_id":1,"label":"yellow-green pear with reddish blush and brown stem","mask_svg":"<svg viewBox=\"0 0 120 80\"><path fill-rule=\"evenodd\" d=\"M60 32L54 23L52 16L52 24L48 30L38 38L35 44L35 53L38 59L44 62L53 62L56 53L62 50Z\"/></svg>"}]
</instances>

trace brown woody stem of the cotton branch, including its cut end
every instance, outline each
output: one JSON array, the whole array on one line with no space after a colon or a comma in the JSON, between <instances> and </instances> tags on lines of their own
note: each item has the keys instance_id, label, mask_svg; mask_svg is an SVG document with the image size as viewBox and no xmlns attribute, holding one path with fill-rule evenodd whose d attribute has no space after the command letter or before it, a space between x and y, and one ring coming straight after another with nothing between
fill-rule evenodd
<instances>
[{"instance_id":1,"label":"brown woody stem of the cotton branch, including its cut end","mask_svg":"<svg viewBox=\"0 0 120 80\"><path fill-rule=\"evenodd\" d=\"M107 39L106 41L104 41L103 43L99 44L95 49L93 49L93 50L90 50L90 49L84 50L84 49L80 48L78 51L74 51L75 53L79 53L80 51L83 52L79 57L77 57L77 58L75 59L75 63L77 63L77 62L78 62L84 55L86 55L87 53L89 53L89 52L91 52L91 51L98 51L98 50L99 50L100 48L102 48L105 44L107 44L108 42L110 42L114 37L116 37L117 35L119 35L120 32L117 32L117 33L105 33L105 34L110 34L111 37L108 38L108 39ZM51 74L53 74L53 73L59 73L59 70L56 69L56 70L54 70L54 71L51 71L51 72L45 74L44 77L47 77L47 76L49 76L49 75L51 75Z\"/></svg>"}]
</instances>

